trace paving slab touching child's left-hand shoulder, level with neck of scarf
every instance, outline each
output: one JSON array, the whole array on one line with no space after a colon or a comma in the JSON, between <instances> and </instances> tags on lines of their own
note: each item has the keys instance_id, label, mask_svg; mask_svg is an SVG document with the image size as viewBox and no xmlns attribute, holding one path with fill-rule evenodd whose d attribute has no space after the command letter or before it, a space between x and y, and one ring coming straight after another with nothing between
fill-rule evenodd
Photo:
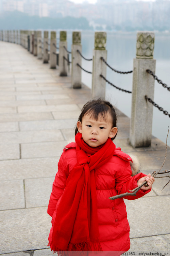
<instances>
[{"instance_id":1,"label":"paving slab touching child's left-hand shoulder, level with neck of scarf","mask_svg":"<svg viewBox=\"0 0 170 256\"><path fill-rule=\"evenodd\" d=\"M67 141L21 144L21 158L61 156Z\"/></svg>"}]
</instances>

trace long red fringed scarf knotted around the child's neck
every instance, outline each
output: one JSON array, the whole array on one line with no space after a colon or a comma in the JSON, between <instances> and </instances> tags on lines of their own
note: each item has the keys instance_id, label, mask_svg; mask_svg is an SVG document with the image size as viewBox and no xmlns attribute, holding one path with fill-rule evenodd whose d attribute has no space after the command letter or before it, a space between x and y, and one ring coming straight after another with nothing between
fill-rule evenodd
<instances>
[{"instance_id":1,"label":"long red fringed scarf knotted around the child's neck","mask_svg":"<svg viewBox=\"0 0 170 256\"><path fill-rule=\"evenodd\" d=\"M99 147L90 147L79 132L75 142L77 164L58 205L50 245L59 255L63 251L90 251L91 244L101 250L94 171L111 159L116 148L110 138Z\"/></svg>"}]
</instances>

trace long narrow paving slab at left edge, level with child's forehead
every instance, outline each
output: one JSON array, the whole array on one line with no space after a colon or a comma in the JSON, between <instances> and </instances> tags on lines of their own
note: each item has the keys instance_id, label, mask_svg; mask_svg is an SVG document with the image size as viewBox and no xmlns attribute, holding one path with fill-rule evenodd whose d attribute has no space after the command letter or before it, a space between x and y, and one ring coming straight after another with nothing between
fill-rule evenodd
<instances>
[{"instance_id":1,"label":"long narrow paving slab at left edge, level with child's forehead","mask_svg":"<svg viewBox=\"0 0 170 256\"><path fill-rule=\"evenodd\" d=\"M39 112L39 113L29 112L29 113L0 114L0 122L50 120L50 119L54 119L50 112Z\"/></svg>"}]
</instances>

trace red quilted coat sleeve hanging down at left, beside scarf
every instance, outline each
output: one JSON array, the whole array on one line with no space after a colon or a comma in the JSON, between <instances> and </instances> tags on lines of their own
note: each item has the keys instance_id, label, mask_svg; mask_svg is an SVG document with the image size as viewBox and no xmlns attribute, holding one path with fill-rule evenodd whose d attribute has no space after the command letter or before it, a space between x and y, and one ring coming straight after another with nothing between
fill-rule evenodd
<instances>
[{"instance_id":1,"label":"red quilted coat sleeve hanging down at left, beside scarf","mask_svg":"<svg viewBox=\"0 0 170 256\"><path fill-rule=\"evenodd\" d=\"M63 195L68 173L69 173L69 170L67 167L67 161L66 159L64 159L64 152L63 152L58 162L58 171L55 175L55 180L52 186L52 193L51 193L49 204L48 204L47 213L50 216L52 216L55 211L55 207L58 202L58 199Z\"/></svg>"}]
</instances>

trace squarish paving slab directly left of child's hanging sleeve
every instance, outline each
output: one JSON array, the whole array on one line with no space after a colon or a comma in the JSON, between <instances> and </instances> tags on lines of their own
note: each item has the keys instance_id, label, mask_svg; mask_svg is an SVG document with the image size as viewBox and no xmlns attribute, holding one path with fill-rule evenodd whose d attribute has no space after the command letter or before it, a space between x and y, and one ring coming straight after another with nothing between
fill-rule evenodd
<instances>
[{"instance_id":1,"label":"squarish paving slab directly left of child's hanging sleeve","mask_svg":"<svg viewBox=\"0 0 170 256\"><path fill-rule=\"evenodd\" d=\"M24 180L26 208L48 206L54 178L55 176Z\"/></svg>"}]
</instances>

